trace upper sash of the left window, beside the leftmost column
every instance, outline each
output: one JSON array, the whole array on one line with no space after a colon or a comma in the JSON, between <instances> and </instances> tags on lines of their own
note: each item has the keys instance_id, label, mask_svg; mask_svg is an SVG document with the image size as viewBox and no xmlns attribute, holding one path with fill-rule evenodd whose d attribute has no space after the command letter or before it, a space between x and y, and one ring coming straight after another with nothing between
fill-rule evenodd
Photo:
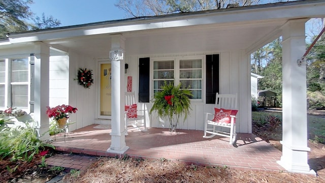
<instances>
[{"instance_id":1,"label":"upper sash of the left window, beside the leftmost column","mask_svg":"<svg viewBox=\"0 0 325 183\"><path fill-rule=\"evenodd\" d=\"M11 69L11 82L28 81L28 58L12 59Z\"/></svg>"}]
</instances>

